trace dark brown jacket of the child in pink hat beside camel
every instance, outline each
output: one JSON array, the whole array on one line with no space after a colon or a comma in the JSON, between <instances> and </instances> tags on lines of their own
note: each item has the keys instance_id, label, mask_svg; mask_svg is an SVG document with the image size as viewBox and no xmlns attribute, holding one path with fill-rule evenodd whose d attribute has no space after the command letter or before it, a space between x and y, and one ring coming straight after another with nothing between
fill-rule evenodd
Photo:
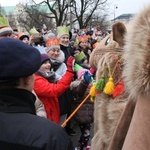
<instances>
[{"instance_id":1,"label":"dark brown jacket of the child in pink hat beside camel","mask_svg":"<svg viewBox=\"0 0 150 150\"><path fill-rule=\"evenodd\" d=\"M75 96L75 106L77 107L89 93L88 84L84 81L76 80L71 83L70 88ZM74 118L79 124L88 124L93 122L94 103L88 99L76 112Z\"/></svg>"}]
</instances>

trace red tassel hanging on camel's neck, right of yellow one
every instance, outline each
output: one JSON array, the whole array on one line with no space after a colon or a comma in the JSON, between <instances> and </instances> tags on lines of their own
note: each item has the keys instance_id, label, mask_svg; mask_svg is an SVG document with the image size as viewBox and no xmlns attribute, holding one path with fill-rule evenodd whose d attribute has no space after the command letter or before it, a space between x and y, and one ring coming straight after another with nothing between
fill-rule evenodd
<instances>
[{"instance_id":1,"label":"red tassel hanging on camel's neck, right of yellow one","mask_svg":"<svg viewBox=\"0 0 150 150\"><path fill-rule=\"evenodd\" d=\"M113 97L116 98L117 96L121 95L123 91L124 91L124 84L122 81L120 81L115 87Z\"/></svg>"}]
</instances>

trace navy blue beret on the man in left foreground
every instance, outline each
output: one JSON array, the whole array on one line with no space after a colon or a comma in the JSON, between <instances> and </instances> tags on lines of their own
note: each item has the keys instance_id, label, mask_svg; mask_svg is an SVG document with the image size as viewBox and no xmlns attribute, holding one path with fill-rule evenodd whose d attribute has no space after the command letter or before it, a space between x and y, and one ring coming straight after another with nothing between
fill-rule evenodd
<instances>
[{"instance_id":1,"label":"navy blue beret on the man in left foreground","mask_svg":"<svg viewBox=\"0 0 150 150\"><path fill-rule=\"evenodd\" d=\"M39 51L13 38L0 38L0 80L26 77L41 66Z\"/></svg>"}]
</instances>

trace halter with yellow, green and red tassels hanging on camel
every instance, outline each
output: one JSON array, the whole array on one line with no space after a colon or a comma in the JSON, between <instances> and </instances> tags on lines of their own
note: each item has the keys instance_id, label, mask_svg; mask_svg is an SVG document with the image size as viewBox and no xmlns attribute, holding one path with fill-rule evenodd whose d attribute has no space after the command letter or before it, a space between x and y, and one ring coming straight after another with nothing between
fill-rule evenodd
<instances>
[{"instance_id":1,"label":"halter with yellow, green and red tassels hanging on camel","mask_svg":"<svg viewBox=\"0 0 150 150\"><path fill-rule=\"evenodd\" d=\"M116 60L115 55L112 53L112 58ZM90 95L91 95L91 101L95 100L95 96L100 93L105 93L109 96L112 96L113 98L119 96L124 91L124 85L121 78L121 64L123 62L123 58L117 59L116 63L111 71L110 65L106 66L104 70L108 69L108 81L105 82L105 71L100 76L99 80L95 83L93 83L93 86L90 89ZM114 83L114 74L117 70L118 73L118 81L116 84Z\"/></svg>"}]
</instances>

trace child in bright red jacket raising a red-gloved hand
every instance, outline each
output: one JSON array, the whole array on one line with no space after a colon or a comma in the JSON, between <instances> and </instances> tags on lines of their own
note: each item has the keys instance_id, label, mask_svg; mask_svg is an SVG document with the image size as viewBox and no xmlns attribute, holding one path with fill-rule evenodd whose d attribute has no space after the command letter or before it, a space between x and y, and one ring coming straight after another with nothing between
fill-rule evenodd
<instances>
[{"instance_id":1,"label":"child in bright red jacket raising a red-gloved hand","mask_svg":"<svg viewBox=\"0 0 150 150\"><path fill-rule=\"evenodd\" d=\"M44 104L47 118L59 124L60 109L58 97L69 88L73 79L74 70L72 66L74 65L74 58L72 56L68 58L67 71L55 84L53 83L54 81L51 81L52 79L55 80L55 76L50 72L49 57L41 55L41 61L41 67L35 73L34 91Z\"/></svg>"}]
</instances>

